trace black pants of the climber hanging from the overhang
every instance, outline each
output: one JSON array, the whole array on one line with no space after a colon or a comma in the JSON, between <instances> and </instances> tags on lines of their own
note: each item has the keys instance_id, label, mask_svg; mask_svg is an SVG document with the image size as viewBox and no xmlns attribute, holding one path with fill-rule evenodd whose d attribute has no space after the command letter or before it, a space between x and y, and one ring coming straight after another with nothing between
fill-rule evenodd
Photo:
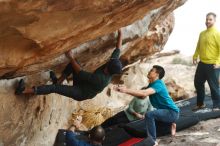
<instances>
[{"instance_id":1,"label":"black pants of the climber hanging from the overhang","mask_svg":"<svg viewBox=\"0 0 220 146\"><path fill-rule=\"evenodd\" d=\"M63 75L64 77L68 77L71 74L73 74L73 83L74 83L73 86L57 85L57 84L42 85L42 86L34 87L35 94L46 95L50 93L57 93L57 94L67 96L78 101L88 99L89 97L86 97L83 95L82 90L79 87L80 81L77 78L77 74L73 70L71 63L69 63L64 69Z\"/></svg>"}]
</instances>

